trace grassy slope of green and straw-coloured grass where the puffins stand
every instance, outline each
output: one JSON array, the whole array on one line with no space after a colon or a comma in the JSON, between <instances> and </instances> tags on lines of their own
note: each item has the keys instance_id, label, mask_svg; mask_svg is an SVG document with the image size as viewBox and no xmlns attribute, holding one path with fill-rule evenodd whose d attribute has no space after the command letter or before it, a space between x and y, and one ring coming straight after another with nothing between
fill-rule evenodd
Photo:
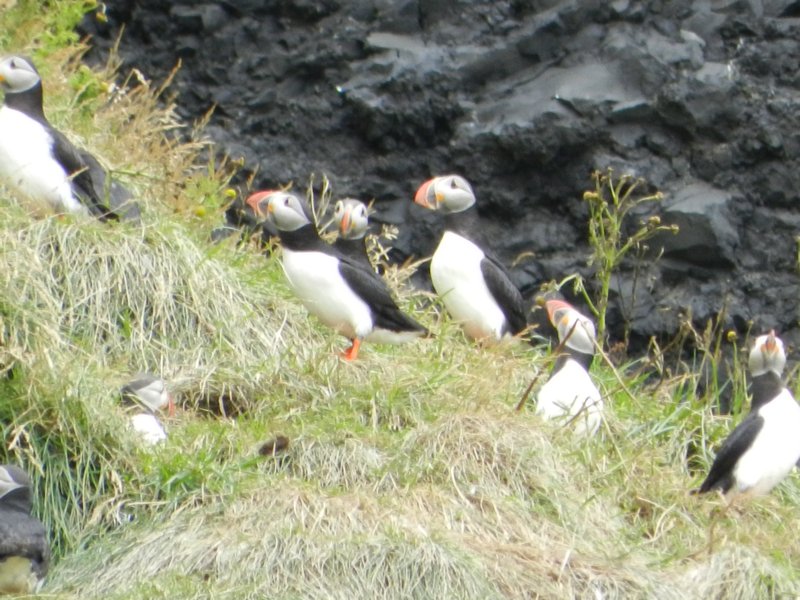
<instances>
[{"instance_id":1,"label":"grassy slope of green and straw-coloured grass where the puffins stand","mask_svg":"<svg viewBox=\"0 0 800 600\"><path fill-rule=\"evenodd\" d=\"M0 203L3 460L33 474L56 598L769 597L800 592L797 476L714 519L687 489L733 423L685 381L644 386L603 365L596 440L515 413L547 369L523 346L478 349L435 308L432 340L368 346L309 322L276 261L211 247L225 173L154 93L113 94L74 61L79 2L0 13L2 50L33 52L47 112L145 205L129 229L31 218ZM113 102L111 100L114 100ZM215 211L211 210L210 213ZM408 290L403 302L427 306ZM183 410L139 448L117 407L137 370ZM628 371L632 371L629 369ZM630 393L629 393L630 392ZM223 406L237 416L220 417ZM258 456L275 434L281 459Z\"/></svg>"}]
</instances>

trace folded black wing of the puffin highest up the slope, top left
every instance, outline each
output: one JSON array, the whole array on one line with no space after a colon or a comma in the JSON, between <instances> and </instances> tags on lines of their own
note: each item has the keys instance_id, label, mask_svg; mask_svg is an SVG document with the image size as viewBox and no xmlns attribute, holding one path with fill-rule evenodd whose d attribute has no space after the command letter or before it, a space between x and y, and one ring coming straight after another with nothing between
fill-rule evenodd
<instances>
[{"instance_id":1,"label":"folded black wing of the puffin highest up the slope, top left","mask_svg":"<svg viewBox=\"0 0 800 600\"><path fill-rule=\"evenodd\" d=\"M50 134L56 160L72 179L75 195L92 215L101 221L140 220L141 213L132 194L112 181L94 156L78 150L60 131L51 128Z\"/></svg>"}]
</instances>

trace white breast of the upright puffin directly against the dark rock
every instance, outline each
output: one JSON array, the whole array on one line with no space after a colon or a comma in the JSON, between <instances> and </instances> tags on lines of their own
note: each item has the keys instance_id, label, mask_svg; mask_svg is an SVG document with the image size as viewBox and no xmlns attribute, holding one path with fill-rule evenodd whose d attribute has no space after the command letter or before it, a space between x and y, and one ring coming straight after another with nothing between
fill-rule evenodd
<instances>
[{"instance_id":1,"label":"white breast of the upright puffin directly against the dark rock","mask_svg":"<svg viewBox=\"0 0 800 600\"><path fill-rule=\"evenodd\" d=\"M506 319L481 272L483 250L445 231L431 259L431 281L447 312L472 339L502 337Z\"/></svg>"}]
</instances>

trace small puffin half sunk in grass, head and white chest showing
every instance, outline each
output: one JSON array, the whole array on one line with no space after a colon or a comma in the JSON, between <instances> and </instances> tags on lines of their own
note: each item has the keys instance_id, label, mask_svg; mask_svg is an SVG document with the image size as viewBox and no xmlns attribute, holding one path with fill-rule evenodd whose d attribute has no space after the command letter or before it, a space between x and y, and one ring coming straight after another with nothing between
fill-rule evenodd
<instances>
[{"instance_id":1,"label":"small puffin half sunk in grass, head and white chest showing","mask_svg":"<svg viewBox=\"0 0 800 600\"><path fill-rule=\"evenodd\" d=\"M120 390L123 403L130 413L131 428L147 444L157 444L167 439L164 426L156 414L167 409L170 417L175 415L175 402L163 379L140 373Z\"/></svg>"}]
</instances>

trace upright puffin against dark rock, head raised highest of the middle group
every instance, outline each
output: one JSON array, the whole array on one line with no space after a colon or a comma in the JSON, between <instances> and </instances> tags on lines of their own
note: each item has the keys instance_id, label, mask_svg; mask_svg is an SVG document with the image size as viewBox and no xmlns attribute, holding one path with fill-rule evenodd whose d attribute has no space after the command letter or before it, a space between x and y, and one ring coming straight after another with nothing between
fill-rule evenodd
<instances>
[{"instance_id":1,"label":"upright puffin against dark rock, head raised highest of the middle group","mask_svg":"<svg viewBox=\"0 0 800 600\"><path fill-rule=\"evenodd\" d=\"M525 303L508 271L468 237L481 229L475 194L460 175L423 183L414 202L445 215L445 231L431 258L431 282L447 312L473 340L499 340L527 327Z\"/></svg>"}]
</instances>

